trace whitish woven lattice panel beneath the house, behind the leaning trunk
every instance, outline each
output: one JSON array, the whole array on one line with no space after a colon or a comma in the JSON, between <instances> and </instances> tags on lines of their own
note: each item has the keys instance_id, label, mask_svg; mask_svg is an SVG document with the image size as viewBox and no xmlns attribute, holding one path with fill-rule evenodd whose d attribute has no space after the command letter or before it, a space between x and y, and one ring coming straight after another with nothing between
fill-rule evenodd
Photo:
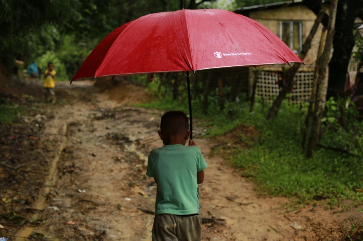
<instances>
[{"instance_id":1,"label":"whitish woven lattice panel beneath the house, behind the leaning trunk","mask_svg":"<svg viewBox=\"0 0 363 241\"><path fill-rule=\"evenodd\" d=\"M262 71L259 73L256 84L256 95L263 97L266 102L273 102L274 97L278 96L279 86L276 84L281 81L278 74L274 72ZM313 89L314 73L300 72L294 77L294 89L290 93L290 103L300 103L310 100L311 90Z\"/></svg>"}]
</instances>

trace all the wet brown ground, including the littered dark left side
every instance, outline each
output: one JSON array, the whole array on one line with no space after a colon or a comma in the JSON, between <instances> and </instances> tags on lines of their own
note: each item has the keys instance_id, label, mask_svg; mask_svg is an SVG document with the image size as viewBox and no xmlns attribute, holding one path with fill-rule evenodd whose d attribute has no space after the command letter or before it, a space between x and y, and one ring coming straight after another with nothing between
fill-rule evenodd
<instances>
[{"instance_id":1,"label":"all the wet brown ground, including the littered dark left side","mask_svg":"<svg viewBox=\"0 0 363 241\"><path fill-rule=\"evenodd\" d=\"M92 84L58 84L56 105L40 99L38 82L11 89L17 95L9 98L28 110L18 124L0 126L0 237L151 240L156 183L145 175L146 161L162 145L156 133L162 112L126 106L145 94L142 87L126 86L133 93L128 99L126 87L118 86L123 96L115 100ZM204 129L197 120L195 135ZM258 135L253 127L238 130ZM202 240L338 241L361 229L363 206L345 201L330 209L321 200L299 207L291 199L259 196L240 170L210 156L211 147L223 144L218 138L195 142L208 163L201 214L223 219L205 222Z\"/></svg>"}]
</instances>

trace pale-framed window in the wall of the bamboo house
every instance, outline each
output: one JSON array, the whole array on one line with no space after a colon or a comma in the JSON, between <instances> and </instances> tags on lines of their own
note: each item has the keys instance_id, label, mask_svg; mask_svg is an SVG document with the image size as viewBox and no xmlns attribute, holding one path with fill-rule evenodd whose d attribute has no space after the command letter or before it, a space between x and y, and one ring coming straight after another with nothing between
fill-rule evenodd
<instances>
[{"instance_id":1,"label":"pale-framed window in the wall of the bamboo house","mask_svg":"<svg viewBox=\"0 0 363 241\"><path fill-rule=\"evenodd\" d=\"M302 48L302 24L301 22L281 21L280 39L286 43L295 53Z\"/></svg>"}]
</instances>

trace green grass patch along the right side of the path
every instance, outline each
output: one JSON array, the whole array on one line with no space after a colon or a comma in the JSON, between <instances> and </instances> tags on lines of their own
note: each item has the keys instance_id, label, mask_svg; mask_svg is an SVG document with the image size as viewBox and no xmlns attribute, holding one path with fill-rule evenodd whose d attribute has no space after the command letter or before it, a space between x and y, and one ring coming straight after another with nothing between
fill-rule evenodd
<instances>
[{"instance_id":1,"label":"green grass patch along the right side of the path","mask_svg":"<svg viewBox=\"0 0 363 241\"><path fill-rule=\"evenodd\" d=\"M185 96L179 101L171 98L156 100L140 106L162 110L182 110L188 113ZM207 121L207 136L216 136L232 130L238 124L255 126L261 138L249 142L246 149L228 146L213 152L223 157L257 183L261 194L296 197L310 202L315 195L327 195L331 202L337 199L363 201L363 155L348 156L339 152L317 148L310 159L301 147L301 126L305 109L283 103L277 117L266 121L268 107L257 103L255 111L249 113L249 103L229 103L223 111L211 103L209 114L201 114L200 101L193 101L193 115ZM329 145L330 134L324 134L321 142ZM334 134L334 135L339 135ZM331 143L330 143L331 144Z\"/></svg>"}]
</instances>

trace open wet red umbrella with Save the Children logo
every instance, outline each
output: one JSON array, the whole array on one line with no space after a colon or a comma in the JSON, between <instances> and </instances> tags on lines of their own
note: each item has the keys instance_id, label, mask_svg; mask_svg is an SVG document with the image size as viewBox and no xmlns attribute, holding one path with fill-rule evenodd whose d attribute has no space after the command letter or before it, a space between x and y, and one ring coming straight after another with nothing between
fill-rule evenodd
<instances>
[{"instance_id":1,"label":"open wet red umbrella with Save the Children logo","mask_svg":"<svg viewBox=\"0 0 363 241\"><path fill-rule=\"evenodd\" d=\"M248 17L220 9L183 9L148 14L114 30L95 47L72 81L290 62L302 60Z\"/></svg>"}]
</instances>

